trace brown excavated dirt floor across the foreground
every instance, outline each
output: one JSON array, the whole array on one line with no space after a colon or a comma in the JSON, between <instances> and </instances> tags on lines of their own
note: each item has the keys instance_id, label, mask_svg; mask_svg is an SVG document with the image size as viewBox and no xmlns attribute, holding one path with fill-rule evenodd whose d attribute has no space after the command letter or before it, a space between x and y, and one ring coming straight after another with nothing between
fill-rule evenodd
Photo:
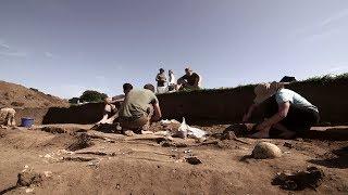
<instances>
[{"instance_id":1,"label":"brown excavated dirt floor across the foreground","mask_svg":"<svg viewBox=\"0 0 348 195\"><path fill-rule=\"evenodd\" d=\"M103 133L89 130L91 126L49 127L63 131L46 132L44 127L0 129L0 194L289 194L293 192L272 185L276 173L313 166L325 176L321 185L295 193L348 193L347 140L264 139L277 145L283 156L261 160L248 158L260 141L248 138L238 139L249 144L215 138L197 143ZM226 127L202 129L219 134ZM152 130L161 129L154 125ZM95 144L67 151L80 133ZM165 140L186 146L164 147L161 143ZM41 174L42 182L39 186L14 187L17 174L27 168Z\"/></svg>"}]
</instances>

